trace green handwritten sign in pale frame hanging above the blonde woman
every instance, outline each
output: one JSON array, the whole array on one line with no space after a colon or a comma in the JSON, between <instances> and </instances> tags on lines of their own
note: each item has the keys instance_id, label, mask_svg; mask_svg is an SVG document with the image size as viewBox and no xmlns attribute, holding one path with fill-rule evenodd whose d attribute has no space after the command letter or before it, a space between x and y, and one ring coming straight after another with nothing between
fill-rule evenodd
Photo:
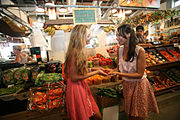
<instances>
[{"instance_id":1,"label":"green handwritten sign in pale frame hanging above the blonde woman","mask_svg":"<svg viewBox=\"0 0 180 120\"><path fill-rule=\"evenodd\" d=\"M73 10L74 24L96 24L96 9L76 8Z\"/></svg>"}]
</instances>

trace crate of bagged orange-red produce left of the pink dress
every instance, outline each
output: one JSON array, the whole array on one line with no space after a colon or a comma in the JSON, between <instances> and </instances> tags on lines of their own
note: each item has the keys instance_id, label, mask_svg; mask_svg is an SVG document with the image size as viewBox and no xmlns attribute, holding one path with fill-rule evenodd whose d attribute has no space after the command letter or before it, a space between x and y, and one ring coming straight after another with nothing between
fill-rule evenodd
<instances>
[{"instance_id":1,"label":"crate of bagged orange-red produce left of the pink dress","mask_svg":"<svg viewBox=\"0 0 180 120\"><path fill-rule=\"evenodd\" d=\"M47 111L55 108L63 109L65 85L62 82L30 89L28 110Z\"/></svg>"}]
</instances>

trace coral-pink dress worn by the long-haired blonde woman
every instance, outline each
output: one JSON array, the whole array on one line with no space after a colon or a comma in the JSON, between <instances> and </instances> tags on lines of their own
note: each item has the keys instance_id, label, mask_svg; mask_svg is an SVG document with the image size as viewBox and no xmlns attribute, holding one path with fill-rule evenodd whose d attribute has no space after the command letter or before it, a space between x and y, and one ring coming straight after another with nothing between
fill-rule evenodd
<instances>
[{"instance_id":1,"label":"coral-pink dress worn by the long-haired blonde woman","mask_svg":"<svg viewBox=\"0 0 180 120\"><path fill-rule=\"evenodd\" d=\"M85 80L72 82L68 69L66 88L67 115L71 120L89 120L99 111Z\"/></svg>"}]
</instances>

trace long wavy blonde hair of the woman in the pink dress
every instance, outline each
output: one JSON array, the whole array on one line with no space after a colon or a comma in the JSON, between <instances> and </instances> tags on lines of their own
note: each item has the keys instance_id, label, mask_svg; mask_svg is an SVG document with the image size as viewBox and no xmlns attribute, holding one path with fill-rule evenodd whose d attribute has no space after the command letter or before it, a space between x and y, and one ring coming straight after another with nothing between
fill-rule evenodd
<instances>
[{"instance_id":1,"label":"long wavy blonde hair of the woman in the pink dress","mask_svg":"<svg viewBox=\"0 0 180 120\"><path fill-rule=\"evenodd\" d=\"M64 65L64 71L66 75L73 51L75 60L74 64L78 73L82 75L87 73L87 57L85 53L87 28L88 27L86 25L76 25L71 32Z\"/></svg>"}]
</instances>

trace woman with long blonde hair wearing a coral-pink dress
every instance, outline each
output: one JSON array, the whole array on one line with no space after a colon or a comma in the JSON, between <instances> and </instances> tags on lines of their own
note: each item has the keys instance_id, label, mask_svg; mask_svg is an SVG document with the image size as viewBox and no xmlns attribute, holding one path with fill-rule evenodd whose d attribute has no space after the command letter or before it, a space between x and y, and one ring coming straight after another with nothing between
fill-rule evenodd
<instances>
[{"instance_id":1,"label":"woman with long blonde hair wearing a coral-pink dress","mask_svg":"<svg viewBox=\"0 0 180 120\"><path fill-rule=\"evenodd\" d=\"M66 108L71 120L89 120L92 116L101 119L99 108L85 79L95 74L107 74L102 70L88 72L85 51L87 31L86 25L76 25L73 28L65 58Z\"/></svg>"}]
</instances>

